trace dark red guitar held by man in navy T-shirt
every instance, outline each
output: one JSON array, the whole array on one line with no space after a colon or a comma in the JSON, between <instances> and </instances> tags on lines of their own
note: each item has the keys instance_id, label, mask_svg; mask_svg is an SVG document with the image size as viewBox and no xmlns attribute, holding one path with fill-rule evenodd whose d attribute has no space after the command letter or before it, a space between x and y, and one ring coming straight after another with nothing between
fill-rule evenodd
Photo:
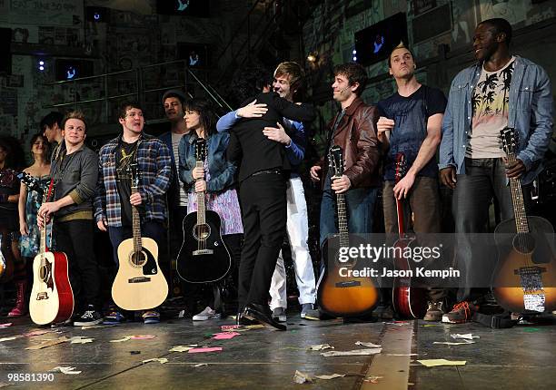
<instances>
[{"instance_id":1,"label":"dark red guitar held by man in navy T-shirt","mask_svg":"<svg viewBox=\"0 0 556 390\"><path fill-rule=\"evenodd\" d=\"M405 156L398 153L396 156L396 184L400 182L407 171ZM402 249L412 245L415 239L405 232L405 221L403 218L404 200L396 199L396 212L398 214L398 234L399 238L394 244L396 248ZM397 251L396 251L397 252ZM394 267L398 270L410 270L411 258L394 258ZM412 288L412 278L393 279L392 287L392 306L399 316L405 318L422 318L427 310L427 301L423 288Z\"/></svg>"}]
</instances>

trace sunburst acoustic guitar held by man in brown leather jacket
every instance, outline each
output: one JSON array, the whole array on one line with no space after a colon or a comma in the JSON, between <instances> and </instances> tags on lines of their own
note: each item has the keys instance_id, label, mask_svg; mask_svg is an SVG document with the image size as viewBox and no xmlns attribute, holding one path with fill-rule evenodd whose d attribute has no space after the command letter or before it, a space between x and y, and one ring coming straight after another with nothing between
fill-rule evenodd
<instances>
[{"instance_id":1,"label":"sunburst acoustic guitar held by man in brown leather jacket","mask_svg":"<svg viewBox=\"0 0 556 390\"><path fill-rule=\"evenodd\" d=\"M333 176L343 175L342 148L334 145L329 151ZM350 270L362 270L358 258L341 258L341 249L366 245L363 239L349 236L345 195L336 194L338 234L327 238L321 250L324 270L317 285L317 302L324 313L333 317L361 317L372 312L378 302L378 290L372 278L354 278Z\"/></svg>"}]
</instances>

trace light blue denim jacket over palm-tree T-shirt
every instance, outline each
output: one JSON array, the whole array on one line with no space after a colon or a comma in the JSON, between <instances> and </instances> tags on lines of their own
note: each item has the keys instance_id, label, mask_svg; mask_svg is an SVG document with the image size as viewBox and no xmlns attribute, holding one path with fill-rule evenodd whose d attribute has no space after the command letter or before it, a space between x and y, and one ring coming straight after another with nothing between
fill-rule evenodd
<instances>
[{"instance_id":1,"label":"light blue denim jacket over palm-tree T-shirt","mask_svg":"<svg viewBox=\"0 0 556 390\"><path fill-rule=\"evenodd\" d=\"M453 79L442 121L439 168L449 166L465 173L465 151L472 130L472 93L481 77L477 63ZM530 183L541 171L541 159L552 134L551 82L544 69L516 55L511 76L508 127L519 132L517 158L525 164L522 184Z\"/></svg>"}]
</instances>

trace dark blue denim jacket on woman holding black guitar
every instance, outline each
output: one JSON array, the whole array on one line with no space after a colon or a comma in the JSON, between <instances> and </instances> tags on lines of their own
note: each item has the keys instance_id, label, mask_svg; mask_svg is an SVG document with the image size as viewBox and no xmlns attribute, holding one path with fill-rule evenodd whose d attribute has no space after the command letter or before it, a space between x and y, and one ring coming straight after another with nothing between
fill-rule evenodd
<instances>
[{"instance_id":1,"label":"dark blue denim jacket on woman holding black guitar","mask_svg":"<svg viewBox=\"0 0 556 390\"><path fill-rule=\"evenodd\" d=\"M189 132L182 137L179 146L180 154L180 180L184 182L185 189L193 189L194 179L192 176L195 168L195 140L196 132ZM226 160L226 148L230 141L228 132L220 132L211 135L206 141L208 171L210 180L206 182L208 192L221 192L233 185L233 174L236 167L231 161Z\"/></svg>"}]
</instances>

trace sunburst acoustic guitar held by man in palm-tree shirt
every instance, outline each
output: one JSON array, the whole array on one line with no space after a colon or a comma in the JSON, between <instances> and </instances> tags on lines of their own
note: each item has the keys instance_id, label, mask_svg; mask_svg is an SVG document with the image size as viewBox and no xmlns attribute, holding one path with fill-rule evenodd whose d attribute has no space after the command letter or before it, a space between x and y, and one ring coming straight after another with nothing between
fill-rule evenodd
<instances>
[{"instance_id":1,"label":"sunburst acoustic guitar held by man in palm-tree shirt","mask_svg":"<svg viewBox=\"0 0 556 390\"><path fill-rule=\"evenodd\" d=\"M501 146L508 163L516 161L518 132L501 131ZM499 259L492 274L491 291L498 304L514 313L542 313L556 308L554 229L541 217L525 213L521 183L510 178L515 218L494 230Z\"/></svg>"}]
</instances>

